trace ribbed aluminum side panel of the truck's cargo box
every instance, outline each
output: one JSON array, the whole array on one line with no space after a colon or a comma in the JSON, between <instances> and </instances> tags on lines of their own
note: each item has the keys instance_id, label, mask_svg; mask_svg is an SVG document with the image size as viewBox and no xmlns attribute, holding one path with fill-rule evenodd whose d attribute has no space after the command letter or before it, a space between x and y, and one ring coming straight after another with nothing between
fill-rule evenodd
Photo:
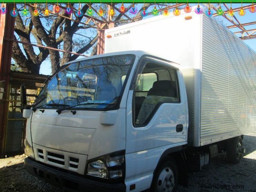
<instances>
[{"instance_id":1,"label":"ribbed aluminum side panel of the truck's cargo box","mask_svg":"<svg viewBox=\"0 0 256 192\"><path fill-rule=\"evenodd\" d=\"M203 16L200 145L256 129L256 53Z\"/></svg>"}]
</instances>

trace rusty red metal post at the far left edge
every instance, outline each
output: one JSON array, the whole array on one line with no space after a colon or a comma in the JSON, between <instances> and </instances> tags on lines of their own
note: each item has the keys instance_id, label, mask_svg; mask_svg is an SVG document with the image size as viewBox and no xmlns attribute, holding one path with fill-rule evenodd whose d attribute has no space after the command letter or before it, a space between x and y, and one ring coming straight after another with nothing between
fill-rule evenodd
<instances>
[{"instance_id":1,"label":"rusty red metal post at the far left edge","mask_svg":"<svg viewBox=\"0 0 256 192\"><path fill-rule=\"evenodd\" d=\"M6 10L12 10L13 5L4 4ZM0 14L0 81L4 81L3 101L0 101L0 157L4 156L4 145L6 135L6 123L8 116L8 95L11 72L12 41L4 39L14 37L15 18L10 14Z\"/></svg>"}]
</instances>

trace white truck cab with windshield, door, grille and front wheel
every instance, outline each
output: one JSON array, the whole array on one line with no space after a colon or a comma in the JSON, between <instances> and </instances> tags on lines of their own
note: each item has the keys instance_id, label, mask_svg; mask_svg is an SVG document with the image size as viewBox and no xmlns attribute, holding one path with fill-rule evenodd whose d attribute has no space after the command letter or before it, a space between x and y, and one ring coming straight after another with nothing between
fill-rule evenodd
<instances>
[{"instance_id":1,"label":"white truck cab with windshield, door, grille and front wheel","mask_svg":"<svg viewBox=\"0 0 256 192\"><path fill-rule=\"evenodd\" d=\"M23 117L25 167L46 182L78 191L177 188L188 130L177 63L144 51L69 62Z\"/></svg>"}]
</instances>

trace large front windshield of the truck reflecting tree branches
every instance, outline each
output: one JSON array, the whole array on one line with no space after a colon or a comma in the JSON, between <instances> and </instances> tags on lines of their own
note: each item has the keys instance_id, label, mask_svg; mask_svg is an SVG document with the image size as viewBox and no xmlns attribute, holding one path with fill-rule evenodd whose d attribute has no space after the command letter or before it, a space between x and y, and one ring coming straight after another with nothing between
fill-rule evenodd
<instances>
[{"instance_id":1,"label":"large front windshield of the truck reflecting tree branches","mask_svg":"<svg viewBox=\"0 0 256 192\"><path fill-rule=\"evenodd\" d=\"M33 107L117 108L134 60L135 55L127 54L71 63L45 85ZM126 78L122 83L124 75Z\"/></svg>"}]
</instances>

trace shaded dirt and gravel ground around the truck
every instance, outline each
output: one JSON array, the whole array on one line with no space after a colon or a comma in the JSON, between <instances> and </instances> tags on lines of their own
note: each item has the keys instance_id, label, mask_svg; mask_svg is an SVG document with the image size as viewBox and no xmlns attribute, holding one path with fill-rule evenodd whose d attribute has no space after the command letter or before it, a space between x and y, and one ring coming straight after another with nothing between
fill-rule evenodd
<instances>
[{"instance_id":1,"label":"shaded dirt and gravel ground around the truck","mask_svg":"<svg viewBox=\"0 0 256 192\"><path fill-rule=\"evenodd\" d=\"M178 186L178 192L256 192L256 132L244 135L246 153L237 165L225 161L220 154L203 167L201 172L190 173L188 188ZM26 172L26 155L0 159L0 192L65 192Z\"/></svg>"}]
</instances>

